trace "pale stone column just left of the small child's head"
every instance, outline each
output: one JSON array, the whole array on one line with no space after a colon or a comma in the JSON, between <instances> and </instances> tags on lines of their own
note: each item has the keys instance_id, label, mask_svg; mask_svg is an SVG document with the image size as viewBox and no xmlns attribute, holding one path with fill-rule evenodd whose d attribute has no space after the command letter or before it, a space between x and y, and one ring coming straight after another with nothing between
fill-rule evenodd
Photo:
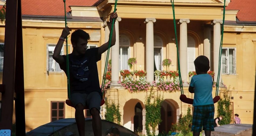
<instances>
[{"instance_id":1,"label":"pale stone column just left of the small child's head","mask_svg":"<svg viewBox=\"0 0 256 136\"><path fill-rule=\"evenodd\" d=\"M179 62L181 69L181 78L184 81L184 85L186 86L188 82L188 31L187 31L187 23L189 23L189 19L180 19L180 36L179 36Z\"/></svg>"}]
</instances>

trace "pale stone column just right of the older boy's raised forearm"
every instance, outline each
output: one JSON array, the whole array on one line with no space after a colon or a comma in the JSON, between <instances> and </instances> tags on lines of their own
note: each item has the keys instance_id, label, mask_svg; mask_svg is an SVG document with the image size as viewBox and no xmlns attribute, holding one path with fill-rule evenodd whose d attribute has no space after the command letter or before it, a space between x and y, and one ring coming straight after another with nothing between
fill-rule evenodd
<instances>
[{"instance_id":1,"label":"pale stone column just right of the older boy's raised forearm","mask_svg":"<svg viewBox=\"0 0 256 136\"><path fill-rule=\"evenodd\" d=\"M122 19L117 17L115 28L116 28L116 44L111 47L111 85L118 86L119 81L119 21Z\"/></svg>"}]
</instances>

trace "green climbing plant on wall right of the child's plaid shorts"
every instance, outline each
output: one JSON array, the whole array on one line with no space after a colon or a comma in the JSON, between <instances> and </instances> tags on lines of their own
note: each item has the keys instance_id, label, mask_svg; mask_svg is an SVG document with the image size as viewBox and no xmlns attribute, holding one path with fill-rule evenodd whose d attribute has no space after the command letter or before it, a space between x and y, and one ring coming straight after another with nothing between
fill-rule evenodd
<instances>
[{"instance_id":1,"label":"green climbing plant on wall right of the child's plaid shorts","mask_svg":"<svg viewBox=\"0 0 256 136\"><path fill-rule=\"evenodd\" d=\"M230 97L229 91L223 91L223 98L218 101L218 117L223 116L223 119L219 121L220 125L230 124L231 122L231 110L230 110Z\"/></svg>"}]
</instances>

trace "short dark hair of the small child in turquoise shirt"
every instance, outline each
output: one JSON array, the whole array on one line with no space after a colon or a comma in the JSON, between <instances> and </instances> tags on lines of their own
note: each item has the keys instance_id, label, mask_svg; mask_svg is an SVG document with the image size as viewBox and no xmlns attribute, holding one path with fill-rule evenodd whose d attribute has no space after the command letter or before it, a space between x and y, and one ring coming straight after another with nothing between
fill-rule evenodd
<instances>
[{"instance_id":1,"label":"short dark hair of the small child in turquoise shirt","mask_svg":"<svg viewBox=\"0 0 256 136\"><path fill-rule=\"evenodd\" d=\"M210 69L210 61L206 56L198 56L194 61L195 67L200 71L207 73Z\"/></svg>"}]
</instances>

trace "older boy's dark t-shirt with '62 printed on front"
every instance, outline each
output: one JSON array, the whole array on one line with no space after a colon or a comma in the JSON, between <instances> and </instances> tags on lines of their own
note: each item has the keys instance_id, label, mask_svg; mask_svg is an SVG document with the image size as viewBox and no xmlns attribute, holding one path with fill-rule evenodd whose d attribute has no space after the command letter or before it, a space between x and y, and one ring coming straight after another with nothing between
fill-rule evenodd
<instances>
[{"instance_id":1,"label":"older boy's dark t-shirt with '62 printed on front","mask_svg":"<svg viewBox=\"0 0 256 136\"><path fill-rule=\"evenodd\" d=\"M69 54L69 71L70 71L70 93L86 93L102 91L99 85L97 62L101 60L101 54L98 54L99 48L87 49L84 55L75 56ZM60 64L60 68L67 75L67 56L62 55L64 63Z\"/></svg>"}]
</instances>

